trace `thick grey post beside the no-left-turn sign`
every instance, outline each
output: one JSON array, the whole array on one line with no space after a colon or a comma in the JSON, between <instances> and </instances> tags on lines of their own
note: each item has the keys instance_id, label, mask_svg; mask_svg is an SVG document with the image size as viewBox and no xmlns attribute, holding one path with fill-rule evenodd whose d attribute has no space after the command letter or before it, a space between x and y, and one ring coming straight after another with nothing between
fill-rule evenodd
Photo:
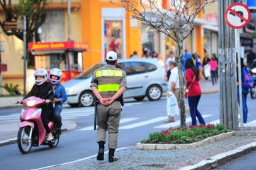
<instances>
[{"instance_id":1,"label":"thick grey post beside the no-left-turn sign","mask_svg":"<svg viewBox=\"0 0 256 170\"><path fill-rule=\"evenodd\" d=\"M218 0L220 122L226 128L238 127L236 92L235 31L224 23L224 12L234 0Z\"/></svg>"}]
</instances>

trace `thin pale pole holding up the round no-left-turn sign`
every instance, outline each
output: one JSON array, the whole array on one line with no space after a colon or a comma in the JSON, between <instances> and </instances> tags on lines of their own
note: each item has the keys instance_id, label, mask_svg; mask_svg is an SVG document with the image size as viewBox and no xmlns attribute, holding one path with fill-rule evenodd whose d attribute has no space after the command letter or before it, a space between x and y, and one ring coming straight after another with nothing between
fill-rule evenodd
<instances>
[{"instance_id":1,"label":"thin pale pole holding up the round no-left-turn sign","mask_svg":"<svg viewBox=\"0 0 256 170\"><path fill-rule=\"evenodd\" d=\"M237 61L238 61L238 86L239 86L239 113L240 113L240 123L241 123L241 131L243 132L243 101L241 99L241 58L240 58L240 31L238 29L235 30L235 38L236 38L236 52L237 52Z\"/></svg>"}]
</instances>

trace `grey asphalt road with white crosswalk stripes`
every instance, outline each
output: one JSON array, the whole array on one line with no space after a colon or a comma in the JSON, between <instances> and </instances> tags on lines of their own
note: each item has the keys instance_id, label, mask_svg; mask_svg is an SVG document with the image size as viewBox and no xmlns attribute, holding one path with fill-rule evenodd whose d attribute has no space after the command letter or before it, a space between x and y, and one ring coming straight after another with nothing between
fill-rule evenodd
<instances>
[{"instance_id":1,"label":"grey asphalt road with white crosswalk stripes","mask_svg":"<svg viewBox=\"0 0 256 170\"><path fill-rule=\"evenodd\" d=\"M127 101L127 100L126 100ZM256 99L248 98L248 122L256 120L254 104ZM16 144L0 147L0 169L35 169L39 167L61 164L88 157L98 152L96 144L96 132L93 130L94 108L64 108L63 113L69 113L65 119L76 121L76 130L64 132L56 148L47 146L32 147L30 154L23 155ZM21 108L6 108L0 110L1 116L18 114ZM86 116L83 116L86 111ZM218 122L219 120L219 94L203 94L199 102L199 111L204 115L206 123ZM79 114L77 113L79 112ZM74 114L71 116L71 114ZM84 113L85 114L85 113ZM136 102L129 99L122 111L119 148L136 145L141 139L147 138L151 132L166 130L168 127L179 125L180 118L174 123L163 123L166 119L166 99L160 101ZM187 123L190 116L187 116ZM256 125L255 125L256 126ZM107 144L105 145L107 148ZM117 152L118 156L118 152Z\"/></svg>"}]
</instances>

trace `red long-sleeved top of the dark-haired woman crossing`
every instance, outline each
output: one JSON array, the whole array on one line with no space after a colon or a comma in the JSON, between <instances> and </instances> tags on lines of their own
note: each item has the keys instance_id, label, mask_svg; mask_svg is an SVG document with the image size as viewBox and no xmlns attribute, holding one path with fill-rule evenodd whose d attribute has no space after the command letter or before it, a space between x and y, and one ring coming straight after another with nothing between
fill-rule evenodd
<instances>
[{"instance_id":1,"label":"red long-sleeved top of the dark-haired woman crossing","mask_svg":"<svg viewBox=\"0 0 256 170\"><path fill-rule=\"evenodd\" d=\"M186 89L190 86L189 88L189 94L188 96L201 96L202 91L200 88L200 84L199 81L197 80L197 78L195 77L194 71L192 71L192 69L187 69L186 70L186 74L185 74L185 79L187 81L186 84ZM195 79L194 79L195 77ZM194 79L194 82L192 82L192 80Z\"/></svg>"}]
</instances>

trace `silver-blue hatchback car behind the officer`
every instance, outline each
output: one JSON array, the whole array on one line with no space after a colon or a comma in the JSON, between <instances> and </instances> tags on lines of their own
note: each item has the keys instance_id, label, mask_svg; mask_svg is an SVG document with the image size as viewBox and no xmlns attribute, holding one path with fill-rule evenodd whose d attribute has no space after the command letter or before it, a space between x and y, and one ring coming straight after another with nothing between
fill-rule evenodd
<instances>
[{"instance_id":1,"label":"silver-blue hatchback car behind the officer","mask_svg":"<svg viewBox=\"0 0 256 170\"><path fill-rule=\"evenodd\" d=\"M93 106L95 96L90 88L91 77L93 72L103 65L103 62L95 64L63 84L70 106ZM147 96L150 101L154 101L160 99L162 93L167 91L165 70L155 60L119 60L116 66L127 74L124 98L141 101Z\"/></svg>"}]
</instances>

